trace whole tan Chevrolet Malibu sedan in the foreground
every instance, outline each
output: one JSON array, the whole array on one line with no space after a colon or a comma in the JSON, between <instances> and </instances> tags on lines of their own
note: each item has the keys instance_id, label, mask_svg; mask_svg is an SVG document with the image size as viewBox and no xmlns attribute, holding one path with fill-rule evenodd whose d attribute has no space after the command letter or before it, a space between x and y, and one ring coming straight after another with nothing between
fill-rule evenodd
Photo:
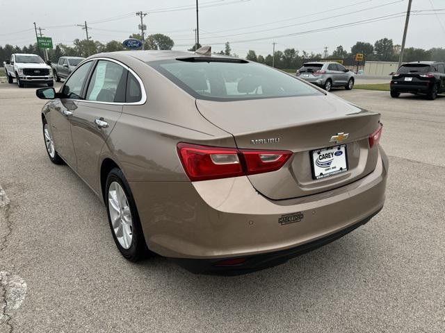
<instances>
[{"instance_id":1,"label":"whole tan Chevrolet Malibu sedan in the foreground","mask_svg":"<svg viewBox=\"0 0 445 333\"><path fill-rule=\"evenodd\" d=\"M44 143L104 200L122 255L195 273L273 266L385 202L380 114L208 50L120 51L37 90Z\"/></svg>"}]
</instances>

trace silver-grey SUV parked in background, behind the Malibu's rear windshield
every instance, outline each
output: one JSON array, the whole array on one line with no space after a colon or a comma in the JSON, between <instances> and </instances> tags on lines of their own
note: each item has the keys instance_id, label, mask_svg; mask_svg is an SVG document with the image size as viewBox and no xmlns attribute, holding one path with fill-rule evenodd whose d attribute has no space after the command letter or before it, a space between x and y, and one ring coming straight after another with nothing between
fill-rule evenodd
<instances>
[{"instance_id":1,"label":"silver-grey SUV parked in background, behind the Malibu's rear windshield","mask_svg":"<svg viewBox=\"0 0 445 333\"><path fill-rule=\"evenodd\" d=\"M332 87L345 87L346 90L354 87L354 74L338 62L306 62L298 69L298 78L307 80L327 92Z\"/></svg>"}]
</instances>

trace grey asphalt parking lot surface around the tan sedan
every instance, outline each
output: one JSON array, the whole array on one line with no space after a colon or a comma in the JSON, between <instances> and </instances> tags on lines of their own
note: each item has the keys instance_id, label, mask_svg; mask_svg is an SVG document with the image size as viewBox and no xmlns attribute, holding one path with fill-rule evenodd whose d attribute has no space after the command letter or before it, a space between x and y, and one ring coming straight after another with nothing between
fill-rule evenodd
<instances>
[{"instance_id":1,"label":"grey asphalt parking lot surface around the tan sedan","mask_svg":"<svg viewBox=\"0 0 445 333\"><path fill-rule=\"evenodd\" d=\"M44 150L35 88L0 84L0 332L445 332L445 96L334 90L382 113L387 202L264 271L123 259L99 198Z\"/></svg>"}]
</instances>

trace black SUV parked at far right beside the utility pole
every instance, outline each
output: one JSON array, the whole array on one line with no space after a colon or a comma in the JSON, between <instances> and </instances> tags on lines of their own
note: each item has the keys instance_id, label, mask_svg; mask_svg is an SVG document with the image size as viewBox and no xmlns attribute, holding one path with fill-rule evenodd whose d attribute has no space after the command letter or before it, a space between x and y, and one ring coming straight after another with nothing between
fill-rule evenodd
<instances>
[{"instance_id":1,"label":"black SUV parked at far right beside the utility pole","mask_svg":"<svg viewBox=\"0 0 445 333\"><path fill-rule=\"evenodd\" d=\"M445 63L435 61L408 62L399 67L391 80L391 97L401 92L426 94L428 99L436 99L445 92Z\"/></svg>"}]
</instances>

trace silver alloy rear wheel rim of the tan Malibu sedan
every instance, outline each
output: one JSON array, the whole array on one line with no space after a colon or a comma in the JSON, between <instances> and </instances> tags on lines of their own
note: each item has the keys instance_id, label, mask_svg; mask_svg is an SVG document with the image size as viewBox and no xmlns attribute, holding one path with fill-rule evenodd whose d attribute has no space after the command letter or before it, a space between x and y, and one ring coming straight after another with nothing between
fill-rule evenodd
<instances>
[{"instance_id":1,"label":"silver alloy rear wheel rim of the tan Malibu sedan","mask_svg":"<svg viewBox=\"0 0 445 333\"><path fill-rule=\"evenodd\" d=\"M108 212L120 246L128 250L133 240L133 219L127 196L118 182L112 182L108 187Z\"/></svg>"}]
</instances>

